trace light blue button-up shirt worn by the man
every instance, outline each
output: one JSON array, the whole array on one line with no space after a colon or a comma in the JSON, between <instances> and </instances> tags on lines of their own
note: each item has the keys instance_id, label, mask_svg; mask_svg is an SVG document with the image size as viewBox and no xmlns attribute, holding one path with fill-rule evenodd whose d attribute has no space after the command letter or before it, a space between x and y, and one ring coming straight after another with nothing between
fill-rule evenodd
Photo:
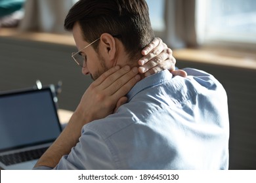
<instances>
[{"instance_id":1,"label":"light blue button-up shirt worn by the man","mask_svg":"<svg viewBox=\"0 0 256 183\"><path fill-rule=\"evenodd\" d=\"M138 82L115 114L83 126L54 169L228 169L226 92L212 75L184 71Z\"/></svg>"}]
</instances>

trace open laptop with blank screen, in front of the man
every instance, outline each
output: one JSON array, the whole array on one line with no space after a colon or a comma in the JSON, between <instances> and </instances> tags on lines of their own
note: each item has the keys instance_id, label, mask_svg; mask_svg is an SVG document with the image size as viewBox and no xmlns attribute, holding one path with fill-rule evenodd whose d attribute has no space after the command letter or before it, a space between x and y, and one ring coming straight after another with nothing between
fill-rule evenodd
<instances>
[{"instance_id":1,"label":"open laptop with blank screen, in front of the man","mask_svg":"<svg viewBox=\"0 0 256 183\"><path fill-rule=\"evenodd\" d=\"M61 131L51 88L0 93L1 169L32 169Z\"/></svg>"}]
</instances>

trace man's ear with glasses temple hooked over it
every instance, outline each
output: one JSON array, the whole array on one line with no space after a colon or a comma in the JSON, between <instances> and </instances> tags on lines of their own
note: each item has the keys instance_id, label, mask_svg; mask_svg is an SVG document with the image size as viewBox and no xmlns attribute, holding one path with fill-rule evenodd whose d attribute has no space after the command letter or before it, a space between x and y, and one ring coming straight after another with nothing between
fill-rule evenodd
<instances>
[{"instance_id":1,"label":"man's ear with glasses temple hooked over it","mask_svg":"<svg viewBox=\"0 0 256 183\"><path fill-rule=\"evenodd\" d=\"M105 59L114 61L116 56L116 40L109 33L102 33L100 36L100 53Z\"/></svg>"}]
</instances>

